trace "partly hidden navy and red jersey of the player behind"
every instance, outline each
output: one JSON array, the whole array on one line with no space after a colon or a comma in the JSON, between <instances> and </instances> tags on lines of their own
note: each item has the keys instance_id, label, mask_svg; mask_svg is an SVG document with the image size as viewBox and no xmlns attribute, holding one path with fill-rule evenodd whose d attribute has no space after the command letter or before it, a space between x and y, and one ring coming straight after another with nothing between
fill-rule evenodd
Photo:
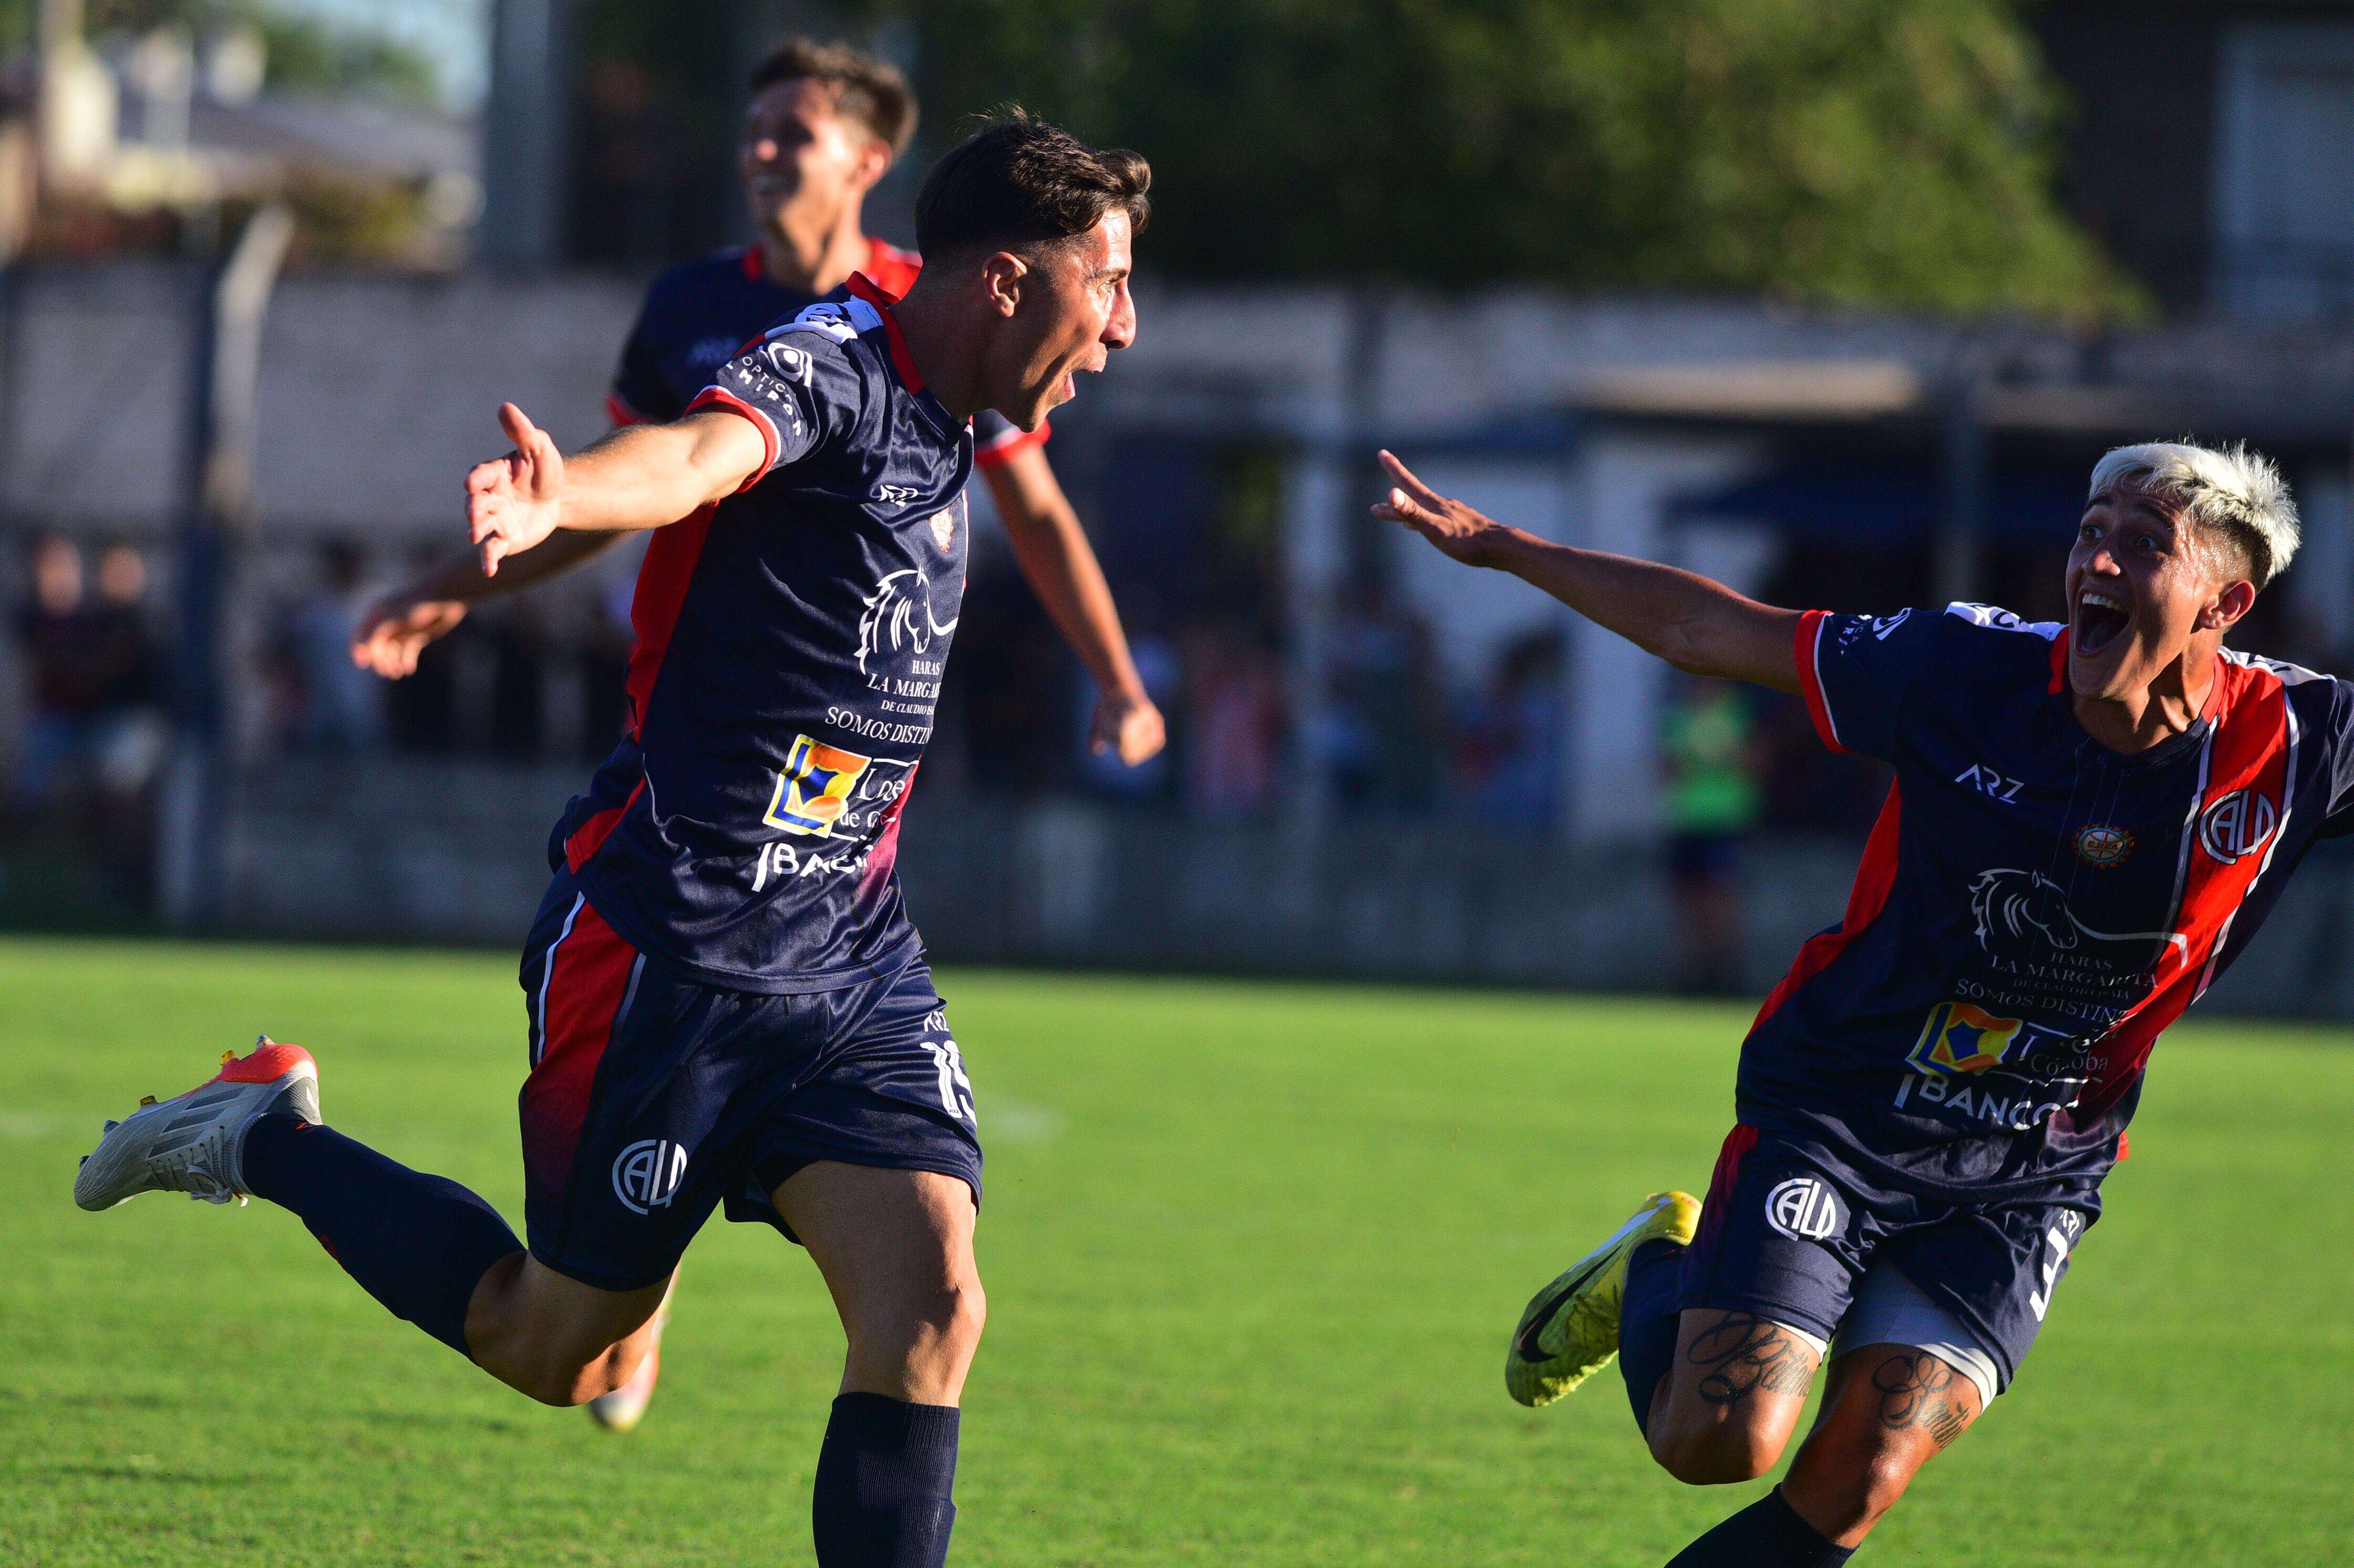
<instances>
[{"instance_id":1,"label":"partly hidden navy and red jersey of the player behind","mask_svg":"<svg viewBox=\"0 0 2354 1568\"><path fill-rule=\"evenodd\" d=\"M892 299L906 294L923 271L923 259L883 240L866 240L866 266L859 268L866 280ZM826 299L840 304L847 290L836 290ZM678 419L744 344L817 301L817 294L770 280L758 247L723 250L671 266L645 290L638 325L621 346L621 370L605 393L605 412L614 424ZM1045 438L1043 424L1024 433L993 410L972 417L972 457L982 466L1000 464Z\"/></svg>"}]
</instances>

